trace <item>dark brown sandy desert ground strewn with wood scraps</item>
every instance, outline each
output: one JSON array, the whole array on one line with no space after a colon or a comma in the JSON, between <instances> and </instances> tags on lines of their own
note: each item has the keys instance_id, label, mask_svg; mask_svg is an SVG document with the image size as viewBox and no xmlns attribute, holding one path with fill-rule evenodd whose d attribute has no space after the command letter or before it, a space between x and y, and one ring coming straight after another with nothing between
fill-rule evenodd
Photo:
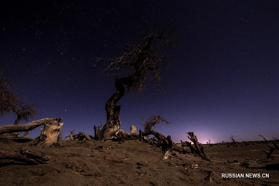
<instances>
[{"instance_id":1,"label":"dark brown sandy desert ground strewn with wood scraps","mask_svg":"<svg viewBox=\"0 0 279 186\"><path fill-rule=\"evenodd\" d=\"M60 141L55 147L42 149L31 144L0 139L0 150L34 149L51 157L50 163L42 165L0 160L0 185L279 185L278 151L267 162L274 166L238 164L246 157L253 161L264 159L266 155L261 150L268 150L264 143L240 143L239 147L206 144L204 151L213 163L191 154L179 154L163 162L160 148L138 140L121 144ZM98 146L104 148L96 149ZM198 168L191 169L192 164L198 164ZM229 173L268 174L269 178L222 178L222 174Z\"/></svg>"}]
</instances>

